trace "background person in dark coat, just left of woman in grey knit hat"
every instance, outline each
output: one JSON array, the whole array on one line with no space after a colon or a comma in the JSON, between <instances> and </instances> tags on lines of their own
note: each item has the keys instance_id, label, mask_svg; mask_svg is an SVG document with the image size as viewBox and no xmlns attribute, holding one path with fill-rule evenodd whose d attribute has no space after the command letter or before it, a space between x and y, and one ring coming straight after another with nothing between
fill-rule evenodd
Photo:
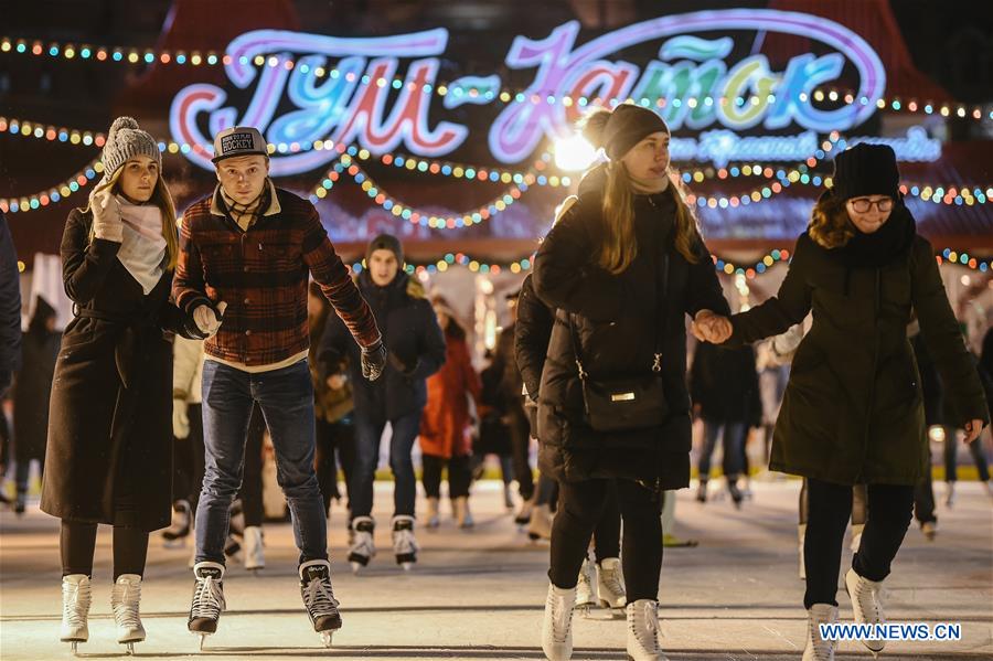
<instances>
[{"instance_id":1,"label":"background person in dark coat, just left of woman in grey knit hat","mask_svg":"<svg viewBox=\"0 0 993 661\"><path fill-rule=\"evenodd\" d=\"M18 463L14 511L19 514L24 512L31 461L38 460L42 467L45 463L49 399L62 339L62 333L55 330L55 309L39 296L28 332L21 341L22 362L13 387L13 440Z\"/></svg>"}]
</instances>

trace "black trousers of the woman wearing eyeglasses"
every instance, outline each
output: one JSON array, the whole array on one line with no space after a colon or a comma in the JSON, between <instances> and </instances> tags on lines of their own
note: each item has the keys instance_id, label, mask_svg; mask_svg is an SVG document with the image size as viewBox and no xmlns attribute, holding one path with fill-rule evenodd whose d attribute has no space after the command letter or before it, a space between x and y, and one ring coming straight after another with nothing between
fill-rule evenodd
<instances>
[{"instance_id":1,"label":"black trousers of the woman wearing eyeglasses","mask_svg":"<svg viewBox=\"0 0 993 661\"><path fill-rule=\"evenodd\" d=\"M809 520L803 541L807 568L803 606L808 609L814 604L837 606L835 594L842 542L852 512L852 487L813 478L807 482ZM910 525L914 487L868 484L866 497L865 530L852 558L852 568L869 580L883 580L889 576L893 558Z\"/></svg>"}]
</instances>

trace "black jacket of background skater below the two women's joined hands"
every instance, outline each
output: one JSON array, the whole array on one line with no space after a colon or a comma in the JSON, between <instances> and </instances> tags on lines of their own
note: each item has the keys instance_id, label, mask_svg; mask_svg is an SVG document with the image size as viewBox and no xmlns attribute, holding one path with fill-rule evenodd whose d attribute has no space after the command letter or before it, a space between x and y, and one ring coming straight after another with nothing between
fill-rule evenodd
<instances>
[{"instance_id":1,"label":"black jacket of background skater below the two women's joined hands","mask_svg":"<svg viewBox=\"0 0 993 661\"><path fill-rule=\"evenodd\" d=\"M751 347L697 344L690 369L690 398L694 407L700 405L700 417L707 422L759 426L762 402Z\"/></svg>"}]
</instances>

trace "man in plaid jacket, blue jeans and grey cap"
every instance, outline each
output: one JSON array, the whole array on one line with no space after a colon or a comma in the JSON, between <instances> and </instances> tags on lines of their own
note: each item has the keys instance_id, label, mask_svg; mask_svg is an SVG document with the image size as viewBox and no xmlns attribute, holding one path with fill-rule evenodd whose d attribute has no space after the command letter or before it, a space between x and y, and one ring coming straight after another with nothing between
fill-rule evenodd
<instances>
[{"instance_id":1,"label":"man in plaid jacket, blue jeans and grey cap","mask_svg":"<svg viewBox=\"0 0 993 661\"><path fill-rule=\"evenodd\" d=\"M228 505L242 482L254 402L276 449L300 550L303 604L330 642L341 627L331 591L327 521L313 470L313 386L307 365L308 271L361 348L362 374L386 362L375 318L334 252L313 205L268 178L261 134L250 127L214 139L220 184L183 215L173 295L209 335L204 344L205 473L196 508L196 564L189 628L213 633L224 609Z\"/></svg>"}]
</instances>

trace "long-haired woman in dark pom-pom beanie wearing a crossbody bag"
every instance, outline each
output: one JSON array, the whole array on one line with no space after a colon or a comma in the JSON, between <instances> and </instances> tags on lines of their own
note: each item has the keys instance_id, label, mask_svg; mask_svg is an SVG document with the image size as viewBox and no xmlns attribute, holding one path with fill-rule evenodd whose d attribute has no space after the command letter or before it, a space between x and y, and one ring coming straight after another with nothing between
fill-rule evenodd
<instances>
[{"instance_id":1,"label":"long-haired woman in dark pom-pom beanie wearing a crossbody bag","mask_svg":"<svg viewBox=\"0 0 993 661\"><path fill-rule=\"evenodd\" d=\"M555 309L538 392L540 466L560 488L542 648L553 660L572 654L577 576L616 480L624 522L627 650L637 661L655 660L662 658L660 502L664 490L690 481L684 319L711 320L728 307L670 177L665 122L626 104L592 114L584 132L610 160L585 177L578 201L538 248L533 275L535 292ZM636 381L642 395L650 393L636 426L608 430L623 415L597 415L594 428L584 386L589 396ZM624 390L598 405L641 406L637 397Z\"/></svg>"}]
</instances>

